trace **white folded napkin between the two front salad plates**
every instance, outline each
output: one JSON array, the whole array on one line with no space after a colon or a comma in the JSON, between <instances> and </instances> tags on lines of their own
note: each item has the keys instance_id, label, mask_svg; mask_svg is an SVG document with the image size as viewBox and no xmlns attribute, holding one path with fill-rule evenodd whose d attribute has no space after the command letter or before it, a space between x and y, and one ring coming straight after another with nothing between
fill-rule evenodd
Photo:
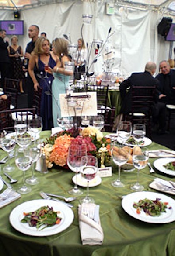
<instances>
[{"instance_id":1,"label":"white folded napkin between the two front salad plates","mask_svg":"<svg viewBox=\"0 0 175 256\"><path fill-rule=\"evenodd\" d=\"M99 218L99 205L79 205L78 216L82 244L102 245L104 235Z\"/></svg>"}]
</instances>

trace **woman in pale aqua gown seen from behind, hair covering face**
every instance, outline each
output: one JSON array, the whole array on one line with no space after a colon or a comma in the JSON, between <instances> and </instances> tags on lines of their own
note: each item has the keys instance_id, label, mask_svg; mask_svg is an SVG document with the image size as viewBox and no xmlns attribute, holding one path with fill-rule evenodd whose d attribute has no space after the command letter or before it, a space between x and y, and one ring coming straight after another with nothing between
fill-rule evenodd
<instances>
[{"instance_id":1,"label":"woman in pale aqua gown seen from behind, hair covering face","mask_svg":"<svg viewBox=\"0 0 175 256\"><path fill-rule=\"evenodd\" d=\"M52 83L52 113L53 126L57 125L57 118L61 117L61 109L59 102L59 94L66 93L66 88L69 86L70 76L72 71L65 70L65 62L70 61L68 56L68 42L63 38L56 38L52 42L52 51L59 57L56 61L56 66L53 68L54 80Z\"/></svg>"}]
</instances>

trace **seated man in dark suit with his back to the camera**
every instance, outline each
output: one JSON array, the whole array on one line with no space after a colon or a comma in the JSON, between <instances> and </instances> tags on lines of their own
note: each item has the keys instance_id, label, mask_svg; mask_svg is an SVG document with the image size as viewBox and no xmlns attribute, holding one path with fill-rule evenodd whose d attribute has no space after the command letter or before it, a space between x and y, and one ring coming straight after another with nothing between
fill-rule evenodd
<instances>
[{"instance_id":1,"label":"seated man in dark suit with his back to the camera","mask_svg":"<svg viewBox=\"0 0 175 256\"><path fill-rule=\"evenodd\" d=\"M129 114L132 110L132 87L133 86L155 86L156 93L154 97L153 107L153 121L154 124L159 123L160 133L165 133L166 128L166 106L158 102L158 80L153 77L156 71L156 64L154 62L147 62L145 71L141 73L132 73L131 76L120 84L120 94L123 100L121 113ZM127 92L127 88L129 91ZM139 112L146 113L147 109L139 109Z\"/></svg>"}]
</instances>

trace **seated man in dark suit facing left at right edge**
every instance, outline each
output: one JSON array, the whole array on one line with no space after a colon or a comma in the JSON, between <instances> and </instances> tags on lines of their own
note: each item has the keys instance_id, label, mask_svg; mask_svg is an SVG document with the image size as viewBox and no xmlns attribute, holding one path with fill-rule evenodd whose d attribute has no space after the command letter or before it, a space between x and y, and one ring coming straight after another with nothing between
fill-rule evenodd
<instances>
[{"instance_id":1,"label":"seated man in dark suit facing left at right edge","mask_svg":"<svg viewBox=\"0 0 175 256\"><path fill-rule=\"evenodd\" d=\"M163 60L159 64L161 73L157 75L159 80L159 101L165 104L175 104L175 70L169 63Z\"/></svg>"}]
</instances>

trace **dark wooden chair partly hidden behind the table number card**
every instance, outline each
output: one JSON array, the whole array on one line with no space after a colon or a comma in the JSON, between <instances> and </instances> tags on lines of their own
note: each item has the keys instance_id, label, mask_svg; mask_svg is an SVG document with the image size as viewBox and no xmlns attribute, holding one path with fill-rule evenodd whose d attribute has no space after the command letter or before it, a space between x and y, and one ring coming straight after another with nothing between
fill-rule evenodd
<instances>
[{"instance_id":1,"label":"dark wooden chair partly hidden behind the table number card","mask_svg":"<svg viewBox=\"0 0 175 256\"><path fill-rule=\"evenodd\" d=\"M86 85L86 91L96 91L97 92L97 110L98 114L104 114L106 110L110 110L110 107L107 106L108 100L108 90L109 85Z\"/></svg>"}]
</instances>

